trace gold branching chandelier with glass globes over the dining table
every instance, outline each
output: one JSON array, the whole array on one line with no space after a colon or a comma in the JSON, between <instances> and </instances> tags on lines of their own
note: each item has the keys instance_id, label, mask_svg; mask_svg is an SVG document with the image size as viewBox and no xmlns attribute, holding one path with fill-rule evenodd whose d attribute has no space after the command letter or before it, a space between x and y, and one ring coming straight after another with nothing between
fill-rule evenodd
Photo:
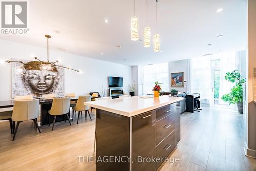
<instances>
[{"instance_id":1,"label":"gold branching chandelier with glass globes over the dining table","mask_svg":"<svg viewBox=\"0 0 256 171\"><path fill-rule=\"evenodd\" d=\"M41 71L52 71L54 69L54 67L60 67L60 68L65 68L65 69L68 69L68 70L73 70L73 71L82 73L82 71L75 70L75 69L70 68L70 67L64 67L64 66L57 65L56 63L58 63L58 60L56 60L55 62L50 62L49 61L49 38L51 38L51 36L47 35L47 34L45 36L47 37L47 61L42 61L42 60L38 59L37 57L34 57L34 59L38 63L38 64L35 64L35 65L37 65L37 66L39 65L39 69ZM24 74L27 71L24 67L24 66L26 66L26 63L24 63L23 61L7 60L5 62L7 62L7 63L21 63L22 64L21 66L15 68L15 72L17 74Z\"/></svg>"}]
</instances>

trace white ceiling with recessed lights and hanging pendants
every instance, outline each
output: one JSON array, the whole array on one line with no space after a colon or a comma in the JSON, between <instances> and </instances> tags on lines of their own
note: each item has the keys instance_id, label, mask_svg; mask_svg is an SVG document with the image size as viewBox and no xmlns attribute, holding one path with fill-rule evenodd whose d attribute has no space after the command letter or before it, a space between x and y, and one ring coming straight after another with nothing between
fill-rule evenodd
<instances>
[{"instance_id":1,"label":"white ceiling with recessed lights and hanging pendants","mask_svg":"<svg viewBox=\"0 0 256 171\"><path fill-rule=\"evenodd\" d=\"M245 49L245 0L159 0L158 33L163 51L159 53L153 52L153 46L144 48L143 41L131 40L133 2L30 0L29 34L0 35L0 38L46 47L44 35L50 34L50 49L65 49L67 53L129 66ZM148 26L152 35L156 33L155 4L155 0L148 0ZM218 8L224 8L224 11L216 13ZM135 15L139 17L142 39L146 26L146 0L136 0ZM108 18L108 24L104 23L104 18ZM217 38L218 35L224 36ZM119 45L121 49L115 47Z\"/></svg>"}]
</instances>

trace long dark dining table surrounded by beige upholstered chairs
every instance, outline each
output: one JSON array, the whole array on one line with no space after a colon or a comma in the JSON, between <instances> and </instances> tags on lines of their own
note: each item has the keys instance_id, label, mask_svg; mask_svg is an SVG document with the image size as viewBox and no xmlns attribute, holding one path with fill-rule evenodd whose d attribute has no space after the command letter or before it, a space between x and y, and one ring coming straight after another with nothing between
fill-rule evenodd
<instances>
[{"instance_id":1,"label":"long dark dining table surrounded by beige upholstered chairs","mask_svg":"<svg viewBox=\"0 0 256 171\"><path fill-rule=\"evenodd\" d=\"M40 125L47 125L50 123L53 123L53 116L49 115L48 111L51 109L52 107L52 102L53 102L53 98L33 98L33 99L39 99L39 104L40 104L40 111L41 111L41 115L40 115ZM77 101L78 100L78 96L73 96L70 97L70 101ZM4 109L4 108L12 108L14 105L14 99L12 100L5 100L5 101L0 101L0 109ZM75 103L72 103L70 106L74 106ZM68 113L68 116L70 117L70 112ZM66 121L66 115L59 115L56 117L55 122L60 122L60 121Z\"/></svg>"}]
</instances>

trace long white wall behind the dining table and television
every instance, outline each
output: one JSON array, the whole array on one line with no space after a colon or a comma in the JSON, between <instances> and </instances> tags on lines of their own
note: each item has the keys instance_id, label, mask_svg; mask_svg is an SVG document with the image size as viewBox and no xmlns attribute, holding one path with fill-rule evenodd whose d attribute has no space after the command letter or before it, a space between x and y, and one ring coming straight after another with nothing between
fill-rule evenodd
<instances>
[{"instance_id":1,"label":"long white wall behind the dining table and television","mask_svg":"<svg viewBox=\"0 0 256 171\"><path fill-rule=\"evenodd\" d=\"M33 60L31 55L36 55L42 60L47 59L47 49L45 48L18 44L6 40L0 40L0 47L0 60L11 58ZM132 67L130 66L53 50L49 51L49 57L51 61L61 59L61 65L83 71L83 74L69 70L66 71L66 93L74 92L77 95L86 95L89 92L97 91L102 94L103 85L107 95L109 93L106 90L108 87L108 76L123 77L124 90L129 92L129 85L132 83ZM11 65L8 63L4 65L0 63L0 100L11 99Z\"/></svg>"}]
</instances>

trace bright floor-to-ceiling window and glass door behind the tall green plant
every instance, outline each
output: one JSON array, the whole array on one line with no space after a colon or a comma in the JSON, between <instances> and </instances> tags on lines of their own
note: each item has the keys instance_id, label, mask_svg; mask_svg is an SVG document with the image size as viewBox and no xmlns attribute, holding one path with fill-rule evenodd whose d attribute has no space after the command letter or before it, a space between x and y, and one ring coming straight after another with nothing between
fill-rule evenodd
<instances>
[{"instance_id":1,"label":"bright floor-to-ceiling window and glass door behind the tall green plant","mask_svg":"<svg viewBox=\"0 0 256 171\"><path fill-rule=\"evenodd\" d=\"M191 91L200 93L203 103L227 105L221 97L230 92L232 83L225 80L227 72L239 70L245 76L245 51L221 53L191 59Z\"/></svg>"}]
</instances>

